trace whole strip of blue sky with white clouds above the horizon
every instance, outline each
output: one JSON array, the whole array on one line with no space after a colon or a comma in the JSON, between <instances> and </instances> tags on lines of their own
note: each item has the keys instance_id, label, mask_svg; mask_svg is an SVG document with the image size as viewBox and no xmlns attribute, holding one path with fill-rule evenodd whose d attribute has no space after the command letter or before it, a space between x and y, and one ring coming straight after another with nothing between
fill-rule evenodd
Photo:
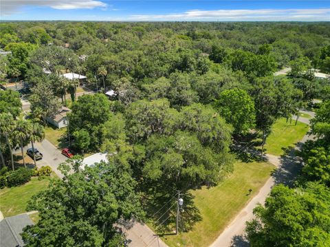
<instances>
[{"instance_id":1,"label":"whole strip of blue sky with white clouds above the horizon","mask_svg":"<svg viewBox=\"0 0 330 247\"><path fill-rule=\"evenodd\" d=\"M0 0L0 11L1 20L330 21L330 0Z\"/></svg>"}]
</instances>

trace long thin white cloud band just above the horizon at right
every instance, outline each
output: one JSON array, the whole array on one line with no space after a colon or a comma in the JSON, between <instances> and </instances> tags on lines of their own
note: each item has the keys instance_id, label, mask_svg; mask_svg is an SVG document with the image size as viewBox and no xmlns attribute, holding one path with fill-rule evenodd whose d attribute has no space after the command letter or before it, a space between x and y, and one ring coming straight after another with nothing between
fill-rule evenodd
<instances>
[{"instance_id":1,"label":"long thin white cloud band just above the horizon at right","mask_svg":"<svg viewBox=\"0 0 330 247\"><path fill-rule=\"evenodd\" d=\"M123 19L124 20L124 19ZM175 14L135 14L134 21L330 21L330 8L287 10L188 10Z\"/></svg>"}]
</instances>

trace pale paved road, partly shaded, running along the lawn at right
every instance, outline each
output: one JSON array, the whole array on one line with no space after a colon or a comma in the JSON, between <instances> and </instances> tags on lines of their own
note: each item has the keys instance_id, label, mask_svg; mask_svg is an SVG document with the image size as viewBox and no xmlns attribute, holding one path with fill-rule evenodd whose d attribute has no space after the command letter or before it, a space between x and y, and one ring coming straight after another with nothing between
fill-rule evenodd
<instances>
[{"instance_id":1,"label":"pale paved road, partly shaded, running along the lawn at right","mask_svg":"<svg viewBox=\"0 0 330 247\"><path fill-rule=\"evenodd\" d=\"M305 112L309 115L314 116L314 113ZM309 123L309 119L300 117L300 120L304 123ZM305 137L298 143L296 149L301 148L301 145L305 143L308 139L313 139L314 137ZM274 164L277 169L276 172L267 180L265 185L260 189L259 193L250 200L241 212L236 215L234 220L225 228L225 230L219 235L219 237L210 245L210 247L247 247L248 242L244 238L245 222L250 221L254 218L253 209L256 204L265 202L265 199L269 195L272 187L279 183L291 186L298 176L302 161L299 157L295 156L294 152L290 152L286 156L274 156L271 154L266 154L267 159L270 163Z\"/></svg>"}]
</instances>

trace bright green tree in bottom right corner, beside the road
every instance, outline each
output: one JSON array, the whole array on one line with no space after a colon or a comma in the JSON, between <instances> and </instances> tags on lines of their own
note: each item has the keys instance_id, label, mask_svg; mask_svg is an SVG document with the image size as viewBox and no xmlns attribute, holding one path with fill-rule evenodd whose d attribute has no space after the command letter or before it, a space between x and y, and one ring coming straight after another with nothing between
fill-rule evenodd
<instances>
[{"instance_id":1,"label":"bright green tree in bottom right corner, beside the road","mask_svg":"<svg viewBox=\"0 0 330 247\"><path fill-rule=\"evenodd\" d=\"M317 183L289 189L278 185L254 209L245 229L250 245L327 246L330 242L330 189Z\"/></svg>"}]
</instances>

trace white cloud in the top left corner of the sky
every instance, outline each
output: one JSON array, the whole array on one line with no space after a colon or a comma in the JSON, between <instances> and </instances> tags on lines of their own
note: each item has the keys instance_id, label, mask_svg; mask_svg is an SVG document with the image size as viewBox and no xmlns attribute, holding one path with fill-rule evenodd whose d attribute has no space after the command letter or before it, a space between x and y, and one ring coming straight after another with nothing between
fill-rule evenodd
<instances>
[{"instance_id":1,"label":"white cloud in the top left corner of the sky","mask_svg":"<svg viewBox=\"0 0 330 247\"><path fill-rule=\"evenodd\" d=\"M105 8L106 3L95 0L1 0L1 15L18 12L25 6L47 6L57 10Z\"/></svg>"}]
</instances>

